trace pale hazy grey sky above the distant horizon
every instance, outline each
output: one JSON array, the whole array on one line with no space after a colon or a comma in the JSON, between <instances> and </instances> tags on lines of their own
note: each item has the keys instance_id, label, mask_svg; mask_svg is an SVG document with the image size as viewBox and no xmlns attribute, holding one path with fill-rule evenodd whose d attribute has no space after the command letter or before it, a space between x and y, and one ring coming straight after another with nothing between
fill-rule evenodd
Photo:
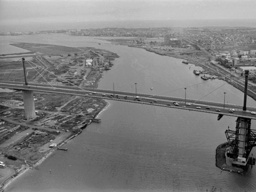
<instances>
[{"instance_id":1,"label":"pale hazy grey sky above the distant horizon","mask_svg":"<svg viewBox=\"0 0 256 192\"><path fill-rule=\"evenodd\" d=\"M0 25L124 20L256 20L256 0L0 0Z\"/></svg>"}]
</instances>

